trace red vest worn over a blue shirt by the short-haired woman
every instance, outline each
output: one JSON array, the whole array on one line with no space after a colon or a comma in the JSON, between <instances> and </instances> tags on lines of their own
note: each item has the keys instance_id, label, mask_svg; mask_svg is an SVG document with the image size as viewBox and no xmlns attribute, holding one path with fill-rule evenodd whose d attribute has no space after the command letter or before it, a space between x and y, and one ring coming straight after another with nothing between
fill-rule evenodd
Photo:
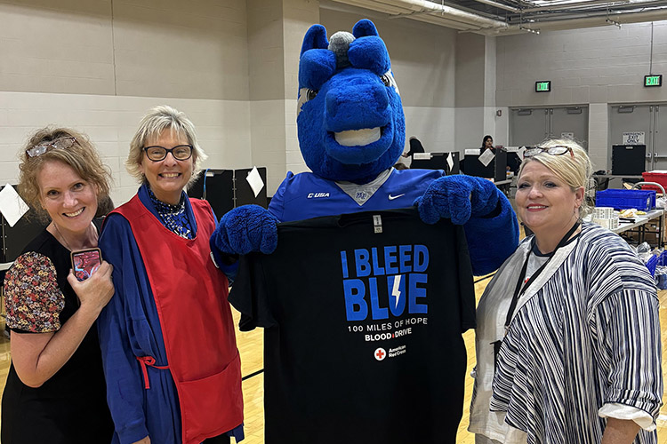
<instances>
[{"instance_id":1,"label":"red vest worn over a blue shirt by the short-haired woman","mask_svg":"<svg viewBox=\"0 0 667 444\"><path fill-rule=\"evenodd\" d=\"M197 220L194 239L165 228L137 195L116 212L130 223L149 275L181 406L183 444L198 444L243 422L243 394L229 285L210 257L211 207L190 202ZM155 360L138 359L146 377L145 365Z\"/></svg>"}]
</instances>

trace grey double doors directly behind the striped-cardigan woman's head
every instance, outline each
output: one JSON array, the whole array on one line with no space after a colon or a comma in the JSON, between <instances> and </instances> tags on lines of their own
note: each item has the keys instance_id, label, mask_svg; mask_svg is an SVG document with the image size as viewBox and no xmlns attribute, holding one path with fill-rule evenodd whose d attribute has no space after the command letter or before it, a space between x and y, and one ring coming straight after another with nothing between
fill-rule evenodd
<instances>
[{"instance_id":1,"label":"grey double doors directly behind the striped-cardigan woman's head","mask_svg":"<svg viewBox=\"0 0 667 444\"><path fill-rule=\"evenodd\" d=\"M536 145L543 139L574 138L588 149L588 107L513 108L510 145Z\"/></svg>"}]
</instances>

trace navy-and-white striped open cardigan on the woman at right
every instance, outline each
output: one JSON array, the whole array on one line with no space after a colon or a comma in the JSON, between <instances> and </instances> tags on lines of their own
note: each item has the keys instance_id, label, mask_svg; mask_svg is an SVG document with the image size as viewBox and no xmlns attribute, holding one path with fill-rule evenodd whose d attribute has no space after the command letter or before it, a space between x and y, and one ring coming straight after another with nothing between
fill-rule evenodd
<instances>
[{"instance_id":1,"label":"navy-and-white striped open cardigan on the woman at right","mask_svg":"<svg viewBox=\"0 0 667 444\"><path fill-rule=\"evenodd\" d=\"M599 413L621 408L648 418L652 431L634 442L655 443L651 419L663 394L655 285L627 243L604 228L584 223L519 298L494 371L489 344L503 337L530 241L478 306L470 431L503 442L599 444L606 424Z\"/></svg>"}]
</instances>

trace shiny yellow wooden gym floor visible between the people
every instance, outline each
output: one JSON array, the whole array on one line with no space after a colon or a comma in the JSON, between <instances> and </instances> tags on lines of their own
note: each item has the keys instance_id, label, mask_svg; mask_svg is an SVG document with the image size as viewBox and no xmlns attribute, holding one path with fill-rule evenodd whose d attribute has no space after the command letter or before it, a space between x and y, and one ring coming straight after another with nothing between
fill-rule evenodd
<instances>
[{"instance_id":1,"label":"shiny yellow wooden gym floor visible between the people","mask_svg":"<svg viewBox=\"0 0 667 444\"><path fill-rule=\"evenodd\" d=\"M480 297L488 279L480 281L475 285L477 297ZM660 325L663 336L663 351L667 350L667 290L658 292L660 297ZM235 312L235 320L238 321L238 313ZM4 327L4 321L0 321L0 327ZM468 370L475 365L474 331L470 330L463 335L468 349ZM237 343L241 352L241 367L244 376L251 375L263 368L263 333L261 329L255 329L251 332L237 331ZM10 365L9 341L0 335L0 381L4 390L4 381ZM667 353L663 352L663 376L667 382ZM264 442L264 412L263 412L263 385L264 377L262 374L249 377L243 383L245 400L245 444L262 444ZM470 405L470 394L472 393L472 378L466 378L465 401L462 406L463 417L459 432L457 435L457 444L474 444L474 436L466 431L468 427L468 408ZM663 398L664 401L667 399ZM663 406L661 414L658 417L658 442L667 444L667 407Z\"/></svg>"}]
</instances>

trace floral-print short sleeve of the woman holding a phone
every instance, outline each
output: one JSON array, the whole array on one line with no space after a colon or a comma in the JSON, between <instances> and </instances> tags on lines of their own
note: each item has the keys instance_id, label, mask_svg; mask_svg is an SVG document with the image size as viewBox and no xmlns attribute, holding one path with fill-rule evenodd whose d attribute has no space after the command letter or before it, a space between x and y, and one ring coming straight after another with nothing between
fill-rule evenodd
<instances>
[{"instance_id":1,"label":"floral-print short sleeve of the woman holding a phone","mask_svg":"<svg viewBox=\"0 0 667 444\"><path fill-rule=\"evenodd\" d=\"M65 295L50 258L36 252L16 258L4 278L4 297L9 329L29 333L60 329Z\"/></svg>"}]
</instances>

